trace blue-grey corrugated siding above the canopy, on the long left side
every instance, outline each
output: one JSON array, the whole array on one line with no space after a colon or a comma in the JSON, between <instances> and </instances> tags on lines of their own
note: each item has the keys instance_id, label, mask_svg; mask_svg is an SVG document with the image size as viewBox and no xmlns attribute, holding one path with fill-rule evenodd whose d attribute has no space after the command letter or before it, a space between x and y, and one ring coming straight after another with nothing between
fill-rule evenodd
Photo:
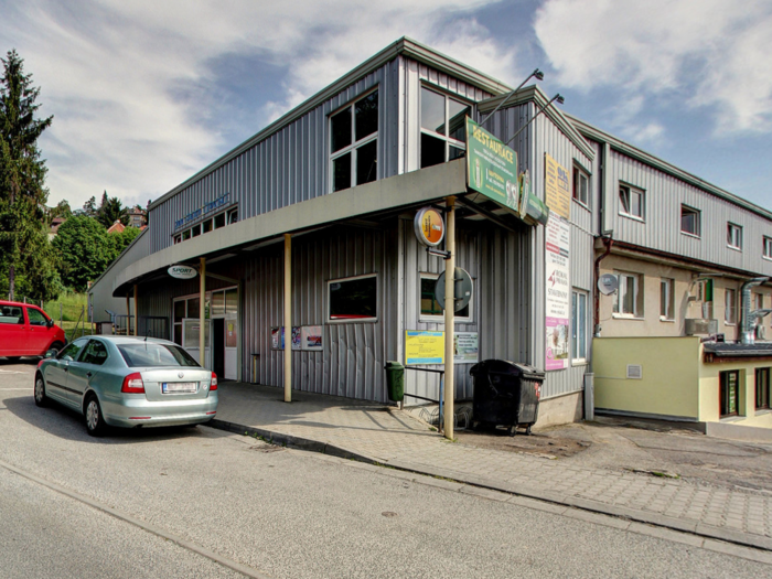
<instances>
[{"instance_id":1,"label":"blue-grey corrugated siding above the canopy, on the long left side","mask_svg":"<svg viewBox=\"0 0 772 579\"><path fill-rule=\"evenodd\" d=\"M399 65L393 61L213 170L150 212L151 250L171 245L174 221L224 193L248 218L329 192L328 116L378 87L378 179L398 170Z\"/></svg>"}]
</instances>

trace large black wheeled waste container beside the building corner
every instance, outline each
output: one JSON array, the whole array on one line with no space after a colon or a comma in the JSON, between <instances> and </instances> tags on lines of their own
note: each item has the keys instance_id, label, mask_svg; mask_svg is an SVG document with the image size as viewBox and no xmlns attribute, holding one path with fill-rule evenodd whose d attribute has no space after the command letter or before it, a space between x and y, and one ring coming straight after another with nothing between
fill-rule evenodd
<instances>
[{"instance_id":1,"label":"large black wheeled waste container beside the building corner","mask_svg":"<svg viewBox=\"0 0 772 579\"><path fill-rule=\"evenodd\" d=\"M518 426L536 422L544 372L506 360L486 360L470 369L474 379L472 423L505 426L515 436Z\"/></svg>"}]
</instances>

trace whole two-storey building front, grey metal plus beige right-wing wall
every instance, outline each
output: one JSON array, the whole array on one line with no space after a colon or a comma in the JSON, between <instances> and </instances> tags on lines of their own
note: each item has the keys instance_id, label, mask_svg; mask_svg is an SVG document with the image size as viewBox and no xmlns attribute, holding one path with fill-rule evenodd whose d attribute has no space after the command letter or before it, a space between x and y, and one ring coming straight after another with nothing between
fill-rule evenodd
<instances>
[{"instance_id":1,"label":"whole two-storey building front, grey metal plus beige right-wing wall","mask_svg":"<svg viewBox=\"0 0 772 579\"><path fill-rule=\"evenodd\" d=\"M457 266L472 279L455 318L467 345L457 398L472 397L476 360L505 358L547 371L540 423L581 418L593 334L685 336L699 313L725 315L718 329L730 339L739 313L720 300L772 276L772 261L751 251L762 238L766 251L772 216L547 105L537 87L511 94L401 39L153 202L149 227L92 288L94 311L128 298L140 335L195 357L203 311L207 367L279 386L289 234L292 387L385 401L383 368L409 360L408 332L444 330L433 296L444 264L418 243L414 218L452 199ZM470 186L468 117L503 142L514 137L521 184L559 223ZM697 235L679 228L695 219L682 207L697 212ZM174 265L205 269L203 310L200 279L171 278ZM596 291L607 272L614 296ZM769 287L754 291L770 303ZM408 373L406 392L437 399L437 374Z\"/></svg>"}]
</instances>

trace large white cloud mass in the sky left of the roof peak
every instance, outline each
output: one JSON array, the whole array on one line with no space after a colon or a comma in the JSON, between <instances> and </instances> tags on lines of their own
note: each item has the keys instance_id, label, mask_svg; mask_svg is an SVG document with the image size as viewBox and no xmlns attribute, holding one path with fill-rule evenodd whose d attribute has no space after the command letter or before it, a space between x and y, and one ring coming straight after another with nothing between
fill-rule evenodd
<instances>
[{"instance_id":1,"label":"large white cloud mass in the sky left of the roof peak","mask_svg":"<svg viewBox=\"0 0 772 579\"><path fill-rule=\"evenodd\" d=\"M224 152L205 122L207 99L227 89L215 85L217 58L286 67L283 97L255 104L265 122L403 35L507 81L513 49L469 15L484 3L28 0L3 7L0 47L19 50L42 87L41 114L55 115L42 140L50 203L77 207L103 190L144 203ZM453 34L443 35L449 19ZM181 98L189 86L200 90Z\"/></svg>"}]
</instances>

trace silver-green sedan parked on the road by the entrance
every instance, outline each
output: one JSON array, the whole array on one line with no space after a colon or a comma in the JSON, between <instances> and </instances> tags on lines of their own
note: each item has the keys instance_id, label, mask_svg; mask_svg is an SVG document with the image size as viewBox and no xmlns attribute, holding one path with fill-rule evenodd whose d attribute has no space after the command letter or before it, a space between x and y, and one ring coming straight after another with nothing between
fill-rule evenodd
<instances>
[{"instance_id":1,"label":"silver-green sedan parked on the road by the entrance","mask_svg":"<svg viewBox=\"0 0 772 579\"><path fill-rule=\"evenodd\" d=\"M217 376L167 340L81 337L39 364L35 404L49 400L81 412L92 436L107 426L196 425L217 412Z\"/></svg>"}]
</instances>

